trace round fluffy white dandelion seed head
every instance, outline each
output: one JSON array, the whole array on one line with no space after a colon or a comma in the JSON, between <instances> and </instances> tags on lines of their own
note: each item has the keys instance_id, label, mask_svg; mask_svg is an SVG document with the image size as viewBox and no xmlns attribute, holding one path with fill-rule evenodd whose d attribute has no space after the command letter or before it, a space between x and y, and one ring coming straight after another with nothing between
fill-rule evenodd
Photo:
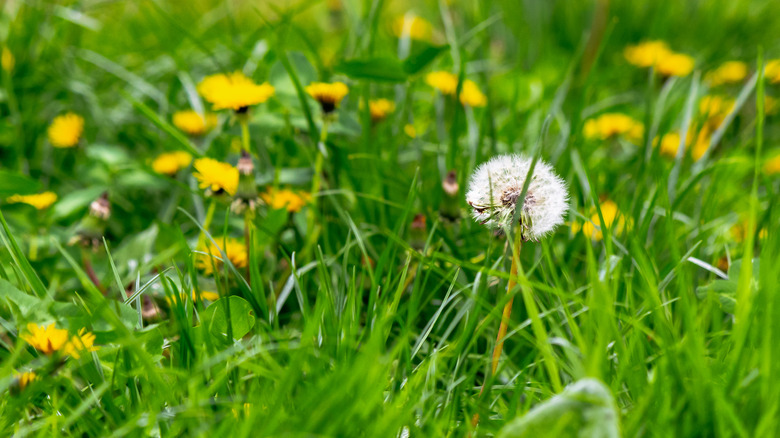
<instances>
[{"instance_id":1,"label":"round fluffy white dandelion seed head","mask_svg":"<svg viewBox=\"0 0 780 438\"><path fill-rule=\"evenodd\" d=\"M532 161L523 155L499 155L477 167L466 193L475 220L489 228L511 225ZM568 198L566 183L549 164L537 161L520 210L522 238L539 240L562 224Z\"/></svg>"}]
</instances>

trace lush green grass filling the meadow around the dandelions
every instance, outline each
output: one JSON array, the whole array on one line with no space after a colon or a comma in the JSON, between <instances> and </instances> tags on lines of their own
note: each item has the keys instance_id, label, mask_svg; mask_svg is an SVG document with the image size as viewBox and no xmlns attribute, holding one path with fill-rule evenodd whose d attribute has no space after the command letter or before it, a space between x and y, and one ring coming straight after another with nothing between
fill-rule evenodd
<instances>
[{"instance_id":1,"label":"lush green grass filling the meadow around the dandelions","mask_svg":"<svg viewBox=\"0 0 780 438\"><path fill-rule=\"evenodd\" d=\"M16 61L0 71L3 435L493 436L555 396L550 370L564 386L603 382L623 436L780 434L780 179L763 170L780 141L763 96L780 85L757 73L780 58L773 1L328 3L0 6L0 46ZM434 35L399 59L391 22L408 10ZM690 54L696 72L648 78L623 58L646 39ZM661 156L654 137L701 122L705 74L731 59L750 73L717 90L742 105L712 148L698 162ZM313 187L323 127L303 87L342 80L350 92L316 201L290 215L261 206L249 275L232 263L206 275L201 232L243 242L244 218L191 170L169 178L150 163L174 150L236 162L228 112L201 138L171 124L205 105L204 76L235 70L276 87L249 124L260 192ZM488 105L436 94L432 70L475 81ZM372 125L378 97L396 109ZM66 111L84 116L83 139L55 149L46 129ZM643 121L645 137L584 138L604 112ZM549 346L515 299L491 375L510 250L470 219L464 192L476 165L512 152L567 181L569 224L604 225L607 200L623 219L603 239L567 224L523 245L512 294L532 291ZM441 185L450 169L454 200ZM59 196L44 211L4 202L41 190ZM68 242L104 191L104 240L82 253ZM455 222L440 215L453 202ZM192 289L221 299L193 302ZM145 315L153 303L159 314ZM28 322L86 328L100 349L46 356L22 339ZM28 370L39 378L20 391L15 373ZM563 420L543 429L575 436Z\"/></svg>"}]
</instances>

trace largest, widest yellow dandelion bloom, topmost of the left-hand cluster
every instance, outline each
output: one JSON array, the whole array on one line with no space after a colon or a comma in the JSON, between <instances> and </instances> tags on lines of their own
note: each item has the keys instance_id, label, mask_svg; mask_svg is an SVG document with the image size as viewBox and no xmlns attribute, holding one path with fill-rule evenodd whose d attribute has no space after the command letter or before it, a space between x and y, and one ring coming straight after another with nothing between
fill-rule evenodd
<instances>
[{"instance_id":1,"label":"largest, widest yellow dandelion bloom, topmost of the left-hand cluster","mask_svg":"<svg viewBox=\"0 0 780 438\"><path fill-rule=\"evenodd\" d=\"M198 93L212 104L214 110L246 111L274 95L274 87L264 82L256 84L241 72L207 76L198 84Z\"/></svg>"}]
</instances>

